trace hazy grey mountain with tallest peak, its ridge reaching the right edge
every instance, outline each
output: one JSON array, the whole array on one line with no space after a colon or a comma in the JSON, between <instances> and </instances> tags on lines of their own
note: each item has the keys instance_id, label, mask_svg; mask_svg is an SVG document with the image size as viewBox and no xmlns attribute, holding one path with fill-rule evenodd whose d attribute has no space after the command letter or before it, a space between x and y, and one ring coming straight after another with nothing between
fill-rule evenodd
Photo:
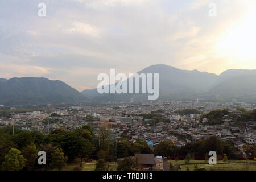
<instances>
[{"instance_id":1,"label":"hazy grey mountain with tallest peak, its ridge reaching the right edge","mask_svg":"<svg viewBox=\"0 0 256 182\"><path fill-rule=\"evenodd\" d=\"M256 101L254 96L256 88L254 82L252 82L254 76L256 76L256 70L229 69L218 76L214 73L182 70L169 65L156 64L138 73L159 73L159 100L200 98ZM131 99L139 101L147 99L146 94L98 94L97 89L84 90L81 93L92 100L98 101L130 101Z\"/></svg>"}]
</instances>

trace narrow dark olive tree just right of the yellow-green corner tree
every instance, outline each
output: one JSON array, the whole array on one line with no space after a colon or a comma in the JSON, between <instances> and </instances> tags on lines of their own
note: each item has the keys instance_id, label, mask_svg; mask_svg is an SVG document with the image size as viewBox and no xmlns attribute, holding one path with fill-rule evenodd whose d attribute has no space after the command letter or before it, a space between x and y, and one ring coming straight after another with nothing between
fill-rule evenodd
<instances>
[{"instance_id":1,"label":"narrow dark olive tree just right of the yellow-green corner tree","mask_svg":"<svg viewBox=\"0 0 256 182\"><path fill-rule=\"evenodd\" d=\"M34 168L36 158L38 158L38 150L36 149L35 144L32 143L27 147L24 147L22 154L24 158L27 159L26 168L28 170L32 170Z\"/></svg>"}]
</instances>

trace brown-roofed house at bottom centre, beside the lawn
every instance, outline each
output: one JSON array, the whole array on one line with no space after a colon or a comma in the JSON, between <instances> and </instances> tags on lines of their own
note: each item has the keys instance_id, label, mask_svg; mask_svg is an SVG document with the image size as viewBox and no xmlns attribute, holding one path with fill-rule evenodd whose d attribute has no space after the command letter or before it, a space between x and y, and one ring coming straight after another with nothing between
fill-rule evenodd
<instances>
[{"instance_id":1,"label":"brown-roofed house at bottom centre, beside the lawn","mask_svg":"<svg viewBox=\"0 0 256 182\"><path fill-rule=\"evenodd\" d=\"M155 164L154 154L135 154L135 161L141 170L152 170Z\"/></svg>"}]
</instances>

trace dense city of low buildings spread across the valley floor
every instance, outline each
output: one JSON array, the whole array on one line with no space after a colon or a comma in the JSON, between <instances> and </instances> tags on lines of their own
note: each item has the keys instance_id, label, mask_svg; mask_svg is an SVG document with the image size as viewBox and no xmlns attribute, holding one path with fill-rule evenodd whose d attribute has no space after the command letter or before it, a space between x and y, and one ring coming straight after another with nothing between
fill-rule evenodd
<instances>
[{"instance_id":1,"label":"dense city of low buildings spread across the valley floor","mask_svg":"<svg viewBox=\"0 0 256 182\"><path fill-rule=\"evenodd\" d=\"M126 156L118 151L120 148L120 144L117 146L118 142L131 144L143 142L152 153L160 143L166 141L177 148L184 148L191 143L195 144L215 136L221 138L223 142L232 144L232 147L236 148L236 155L240 155L243 159L249 156L253 160L256 139L255 107L255 104L245 102L199 100L119 102L34 110L18 110L12 107L11 110L1 111L0 126L11 127L13 135L16 130L39 131L48 135L58 130L75 131L83 126L90 126L98 142L96 146L100 146L100 130L104 128L109 131L110 138L114 142L113 160L117 158L123 160ZM253 152L247 154L248 150L245 146L251 146ZM159 161L158 170L169 170L170 166L164 168L164 163L161 161L164 157L175 158L171 157L171 154L161 152L160 156L156 155L152 154L152 159ZM196 158L195 153L190 155ZM154 162L155 168L156 163Z\"/></svg>"}]
</instances>

